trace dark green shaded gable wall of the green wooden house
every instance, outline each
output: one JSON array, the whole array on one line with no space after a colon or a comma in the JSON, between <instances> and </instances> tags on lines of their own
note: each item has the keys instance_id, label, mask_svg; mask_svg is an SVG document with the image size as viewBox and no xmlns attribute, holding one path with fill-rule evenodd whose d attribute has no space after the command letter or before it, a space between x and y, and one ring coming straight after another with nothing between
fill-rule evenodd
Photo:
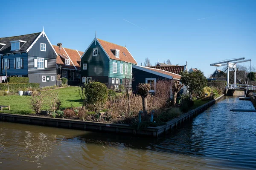
<instances>
[{"instance_id":1,"label":"dark green shaded gable wall of the green wooden house","mask_svg":"<svg viewBox=\"0 0 256 170\"><path fill-rule=\"evenodd\" d=\"M98 56L93 56L93 49L98 49ZM83 64L87 63L87 70L83 69ZM92 81L105 83L108 77L109 59L96 41L91 44L87 52L81 58L81 77L92 77ZM81 78L82 84L82 78Z\"/></svg>"}]
</instances>

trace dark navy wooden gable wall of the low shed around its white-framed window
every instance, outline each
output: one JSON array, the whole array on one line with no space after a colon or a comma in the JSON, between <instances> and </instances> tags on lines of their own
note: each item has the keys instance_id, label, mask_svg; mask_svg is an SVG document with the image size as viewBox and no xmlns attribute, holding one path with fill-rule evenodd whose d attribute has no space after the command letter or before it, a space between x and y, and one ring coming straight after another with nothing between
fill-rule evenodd
<instances>
[{"instance_id":1,"label":"dark navy wooden gable wall of the low shed around its white-framed window","mask_svg":"<svg viewBox=\"0 0 256 170\"><path fill-rule=\"evenodd\" d=\"M139 83L145 83L146 82L146 78L155 78L156 81L158 80L164 80L164 79L168 79L159 75L155 75L149 72L145 72L143 70L140 69L135 69L133 68L132 70L133 72L133 82L132 82L132 91L136 93L137 91L137 85Z\"/></svg>"}]
</instances>

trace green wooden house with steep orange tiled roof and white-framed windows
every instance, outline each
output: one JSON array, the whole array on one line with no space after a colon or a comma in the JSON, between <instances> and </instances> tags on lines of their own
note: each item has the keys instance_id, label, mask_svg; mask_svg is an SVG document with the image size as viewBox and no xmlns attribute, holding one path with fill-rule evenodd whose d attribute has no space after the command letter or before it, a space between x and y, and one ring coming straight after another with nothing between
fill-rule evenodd
<instances>
[{"instance_id":1,"label":"green wooden house with steep orange tiled roof and white-framed windows","mask_svg":"<svg viewBox=\"0 0 256 170\"><path fill-rule=\"evenodd\" d=\"M126 47L94 38L81 56L81 84L98 81L108 88L131 88L132 65L137 62Z\"/></svg>"}]
</instances>

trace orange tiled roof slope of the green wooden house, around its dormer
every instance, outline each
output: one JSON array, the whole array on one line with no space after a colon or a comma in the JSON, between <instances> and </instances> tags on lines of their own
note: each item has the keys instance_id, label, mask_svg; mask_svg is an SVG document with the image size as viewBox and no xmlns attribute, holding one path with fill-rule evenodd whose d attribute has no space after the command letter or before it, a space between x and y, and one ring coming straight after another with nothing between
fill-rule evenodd
<instances>
[{"instance_id":1,"label":"orange tiled roof slope of the green wooden house, around its dormer","mask_svg":"<svg viewBox=\"0 0 256 170\"><path fill-rule=\"evenodd\" d=\"M110 42L105 41L105 40L100 40L100 39L97 39L97 40L99 41L99 43L101 44L101 46L107 52L108 56L111 59L119 60L119 61L126 61L128 63L137 64L137 62L134 60L134 58L132 57L131 53L128 51L128 49L126 49L126 47L119 46L119 45L116 45L114 43L110 43ZM119 49L120 50L119 58L116 58L116 56L113 54L111 49ZM125 55L123 53L125 53Z\"/></svg>"}]
</instances>

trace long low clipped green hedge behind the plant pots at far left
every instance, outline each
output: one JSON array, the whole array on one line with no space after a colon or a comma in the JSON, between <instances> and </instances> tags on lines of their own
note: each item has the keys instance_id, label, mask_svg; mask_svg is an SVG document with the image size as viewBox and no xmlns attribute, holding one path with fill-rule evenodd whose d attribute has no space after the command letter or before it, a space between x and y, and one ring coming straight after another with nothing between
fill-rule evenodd
<instances>
[{"instance_id":1,"label":"long low clipped green hedge behind the plant pots at far left","mask_svg":"<svg viewBox=\"0 0 256 170\"><path fill-rule=\"evenodd\" d=\"M38 89L39 83L8 83L10 92L17 92L21 90L28 90L28 88ZM0 83L0 90L7 91L7 83Z\"/></svg>"}]
</instances>

